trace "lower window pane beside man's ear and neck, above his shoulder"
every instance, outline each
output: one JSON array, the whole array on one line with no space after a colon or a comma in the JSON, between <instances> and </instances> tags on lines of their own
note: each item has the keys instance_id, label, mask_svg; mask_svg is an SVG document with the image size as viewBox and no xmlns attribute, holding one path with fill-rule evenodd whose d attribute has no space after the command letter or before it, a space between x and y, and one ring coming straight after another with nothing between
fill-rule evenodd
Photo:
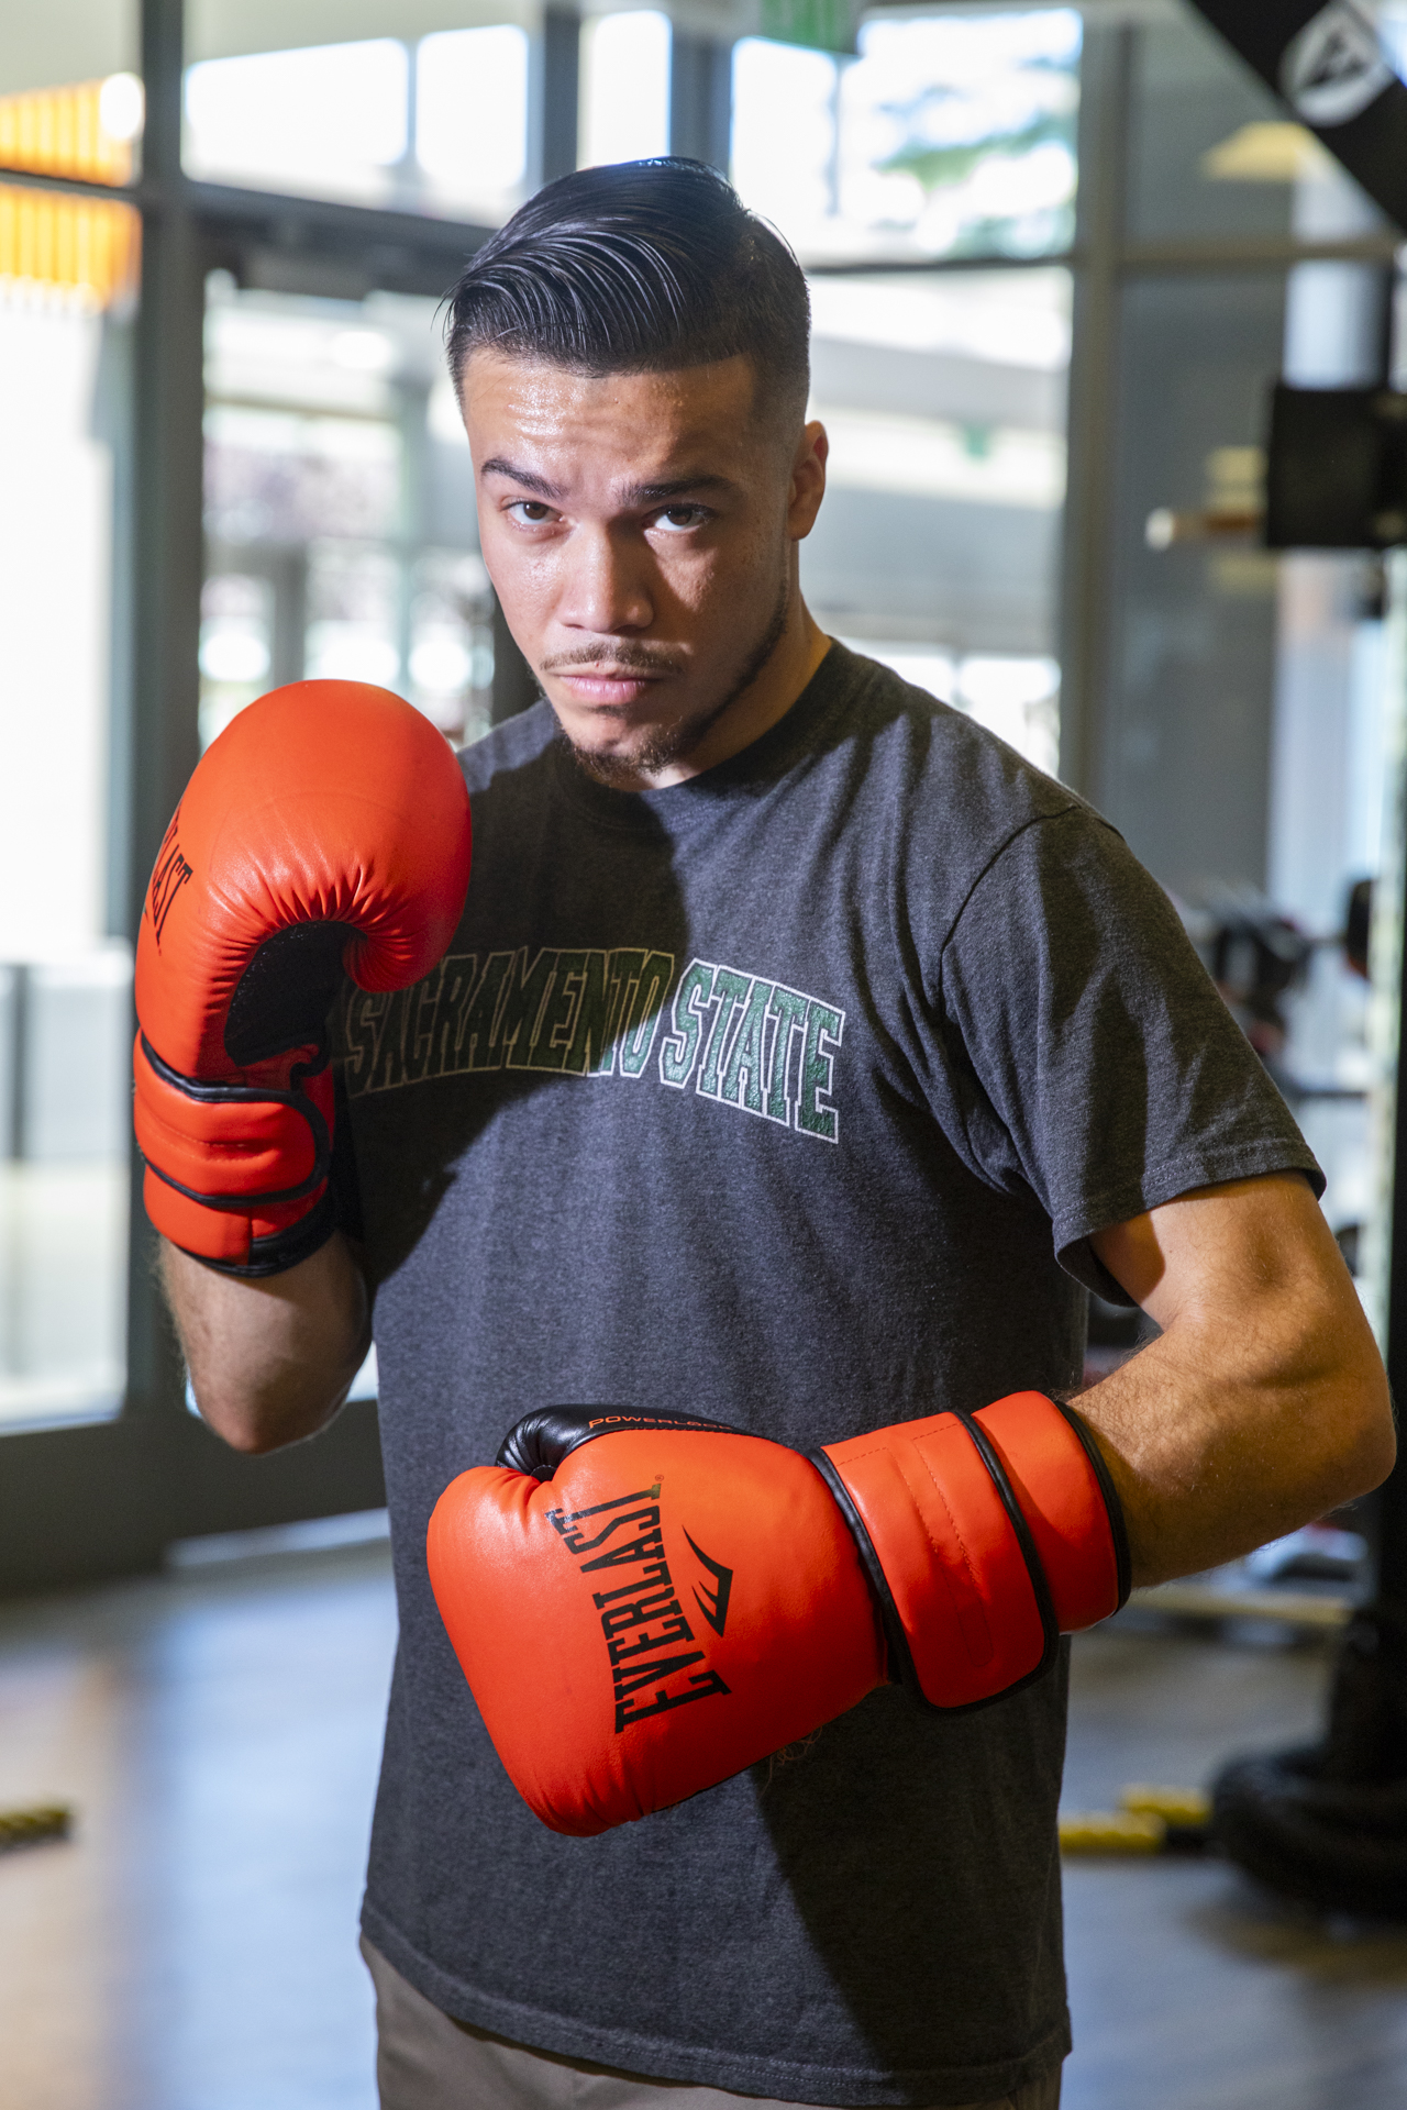
<instances>
[{"instance_id":1,"label":"lower window pane beside man's ear and neck, above his shoulder","mask_svg":"<svg viewBox=\"0 0 1407 2110\"><path fill-rule=\"evenodd\" d=\"M1055 770L1067 274L816 276L812 319L816 618Z\"/></svg>"}]
</instances>

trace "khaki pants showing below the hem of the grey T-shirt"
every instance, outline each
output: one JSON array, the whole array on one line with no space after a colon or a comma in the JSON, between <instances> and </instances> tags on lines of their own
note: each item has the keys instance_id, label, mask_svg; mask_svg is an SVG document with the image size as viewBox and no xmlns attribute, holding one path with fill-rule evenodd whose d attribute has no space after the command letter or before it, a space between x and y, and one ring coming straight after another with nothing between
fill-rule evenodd
<instances>
[{"instance_id":1,"label":"khaki pants showing below the hem of the grey T-shirt","mask_svg":"<svg viewBox=\"0 0 1407 2110\"><path fill-rule=\"evenodd\" d=\"M382 2110L797 2110L692 2080L641 2080L612 2066L529 2051L443 2015L392 1964L361 1943L375 1983L375 2080ZM1059 2110L1061 2076L964 2110ZM806 2106L802 2106L806 2110Z\"/></svg>"}]
</instances>

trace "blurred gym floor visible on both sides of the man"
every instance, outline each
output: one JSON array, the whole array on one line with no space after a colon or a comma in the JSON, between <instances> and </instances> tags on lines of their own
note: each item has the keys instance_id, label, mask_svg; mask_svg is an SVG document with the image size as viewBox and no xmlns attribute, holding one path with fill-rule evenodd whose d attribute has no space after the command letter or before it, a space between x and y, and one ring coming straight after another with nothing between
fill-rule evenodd
<instances>
[{"instance_id":1,"label":"blurred gym floor visible on both sides of the man","mask_svg":"<svg viewBox=\"0 0 1407 2110\"><path fill-rule=\"evenodd\" d=\"M373 2110L354 1950L394 1608L384 1547L0 1608L0 2110ZM1316 1722L1321 1648L1122 1623L1076 1646L1067 1791L1198 1783ZM1407 1929L1323 1929L1217 1863L1067 1869L1065 2110L1394 2110Z\"/></svg>"}]
</instances>

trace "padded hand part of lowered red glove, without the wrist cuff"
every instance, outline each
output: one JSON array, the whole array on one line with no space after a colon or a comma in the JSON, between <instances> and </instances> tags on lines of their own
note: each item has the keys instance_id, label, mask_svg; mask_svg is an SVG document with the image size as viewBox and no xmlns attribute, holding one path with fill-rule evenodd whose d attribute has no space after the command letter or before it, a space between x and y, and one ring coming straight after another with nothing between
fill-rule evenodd
<instances>
[{"instance_id":1,"label":"padded hand part of lowered red glove, without the wrist cuff","mask_svg":"<svg viewBox=\"0 0 1407 2110\"><path fill-rule=\"evenodd\" d=\"M884 1680L799 1452L688 1416L529 1414L430 1517L435 1601L494 1747L589 1838L808 1737Z\"/></svg>"}]
</instances>

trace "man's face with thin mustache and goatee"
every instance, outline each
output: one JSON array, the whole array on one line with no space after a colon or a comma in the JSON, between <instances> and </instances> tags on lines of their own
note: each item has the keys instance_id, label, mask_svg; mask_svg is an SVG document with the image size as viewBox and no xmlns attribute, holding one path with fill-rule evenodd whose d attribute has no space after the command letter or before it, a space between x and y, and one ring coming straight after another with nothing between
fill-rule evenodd
<instances>
[{"instance_id":1,"label":"man's face with thin mustache and goatee","mask_svg":"<svg viewBox=\"0 0 1407 2110\"><path fill-rule=\"evenodd\" d=\"M825 433L755 416L753 392L747 359L595 380L468 361L483 559L563 732L608 781L696 749L795 627Z\"/></svg>"}]
</instances>

